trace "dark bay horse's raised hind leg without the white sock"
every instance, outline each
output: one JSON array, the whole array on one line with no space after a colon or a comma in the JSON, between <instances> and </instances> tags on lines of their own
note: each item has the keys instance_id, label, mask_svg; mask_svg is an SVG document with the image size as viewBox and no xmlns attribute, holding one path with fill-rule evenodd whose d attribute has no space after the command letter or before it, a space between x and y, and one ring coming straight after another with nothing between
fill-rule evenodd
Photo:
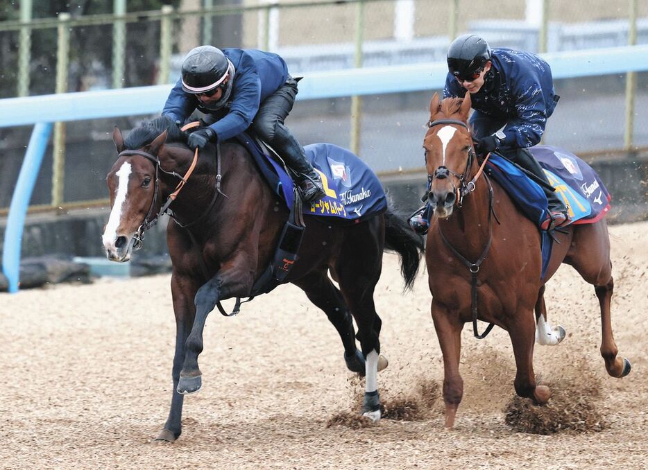
<instances>
[{"instance_id":1,"label":"dark bay horse's raised hind leg without the white sock","mask_svg":"<svg viewBox=\"0 0 648 470\"><path fill-rule=\"evenodd\" d=\"M351 315L340 291L333 285L325 269L310 272L293 281L302 288L308 299L321 308L340 335L344 347L344 360L348 369L364 375L364 357L355 346L355 329Z\"/></svg>"}]
</instances>

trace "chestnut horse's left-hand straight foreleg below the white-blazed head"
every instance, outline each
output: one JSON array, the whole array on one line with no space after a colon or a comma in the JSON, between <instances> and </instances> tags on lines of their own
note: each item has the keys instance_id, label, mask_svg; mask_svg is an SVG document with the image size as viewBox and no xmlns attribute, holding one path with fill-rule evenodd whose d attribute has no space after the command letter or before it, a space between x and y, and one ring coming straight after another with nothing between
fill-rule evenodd
<instances>
[{"instance_id":1,"label":"chestnut horse's left-hand straight foreleg below the white-blazed head","mask_svg":"<svg viewBox=\"0 0 648 470\"><path fill-rule=\"evenodd\" d=\"M445 403L445 426L452 428L457 408L463 398L463 378L459 375L461 358L461 330L463 323L458 315L432 300L432 320L438 344L443 354L443 402Z\"/></svg>"}]
</instances>

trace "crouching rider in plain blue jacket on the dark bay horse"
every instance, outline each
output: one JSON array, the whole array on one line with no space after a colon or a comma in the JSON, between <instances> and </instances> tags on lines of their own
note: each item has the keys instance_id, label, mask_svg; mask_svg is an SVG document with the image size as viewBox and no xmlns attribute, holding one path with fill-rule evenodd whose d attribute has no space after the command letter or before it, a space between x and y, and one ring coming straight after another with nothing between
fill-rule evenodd
<instances>
[{"instance_id":1,"label":"crouching rider in plain blue jacket on the dark bay horse","mask_svg":"<svg viewBox=\"0 0 648 470\"><path fill-rule=\"evenodd\" d=\"M182 63L182 77L171 90L162 115L178 123L184 123L196 109L206 115L205 126L189 134L191 148L225 141L251 127L296 173L302 200L312 202L325 195L321 177L284 125L297 92L297 80L277 54L199 46Z\"/></svg>"}]
</instances>

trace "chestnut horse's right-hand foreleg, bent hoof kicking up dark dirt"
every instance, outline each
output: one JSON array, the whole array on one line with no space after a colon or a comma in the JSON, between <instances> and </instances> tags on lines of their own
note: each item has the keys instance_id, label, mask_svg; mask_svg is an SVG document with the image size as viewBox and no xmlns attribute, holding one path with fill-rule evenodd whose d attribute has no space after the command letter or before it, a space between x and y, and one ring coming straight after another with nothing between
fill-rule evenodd
<instances>
[{"instance_id":1,"label":"chestnut horse's right-hand foreleg, bent hoof kicking up dark dirt","mask_svg":"<svg viewBox=\"0 0 648 470\"><path fill-rule=\"evenodd\" d=\"M536 403L547 403L551 392L546 385L536 386L534 373L534 317L531 312L522 311L513 322L506 325L511 336L513 354L515 355L515 392L524 398L532 398Z\"/></svg>"}]
</instances>

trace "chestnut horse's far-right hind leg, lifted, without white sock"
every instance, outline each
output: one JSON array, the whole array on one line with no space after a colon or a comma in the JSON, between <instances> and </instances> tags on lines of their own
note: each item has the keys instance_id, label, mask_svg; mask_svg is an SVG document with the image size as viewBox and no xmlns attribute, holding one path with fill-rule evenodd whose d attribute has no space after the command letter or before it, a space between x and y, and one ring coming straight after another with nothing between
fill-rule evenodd
<instances>
[{"instance_id":1,"label":"chestnut horse's far-right hind leg, lifted, without white sock","mask_svg":"<svg viewBox=\"0 0 648 470\"><path fill-rule=\"evenodd\" d=\"M594 284L601 307L601 356L605 368L613 377L630 373L630 361L617 357L618 349L612 334L610 304L614 290L610 238L605 219L594 224L579 225L574 229L574 243L568 252L568 263L574 266L588 283Z\"/></svg>"}]
</instances>

